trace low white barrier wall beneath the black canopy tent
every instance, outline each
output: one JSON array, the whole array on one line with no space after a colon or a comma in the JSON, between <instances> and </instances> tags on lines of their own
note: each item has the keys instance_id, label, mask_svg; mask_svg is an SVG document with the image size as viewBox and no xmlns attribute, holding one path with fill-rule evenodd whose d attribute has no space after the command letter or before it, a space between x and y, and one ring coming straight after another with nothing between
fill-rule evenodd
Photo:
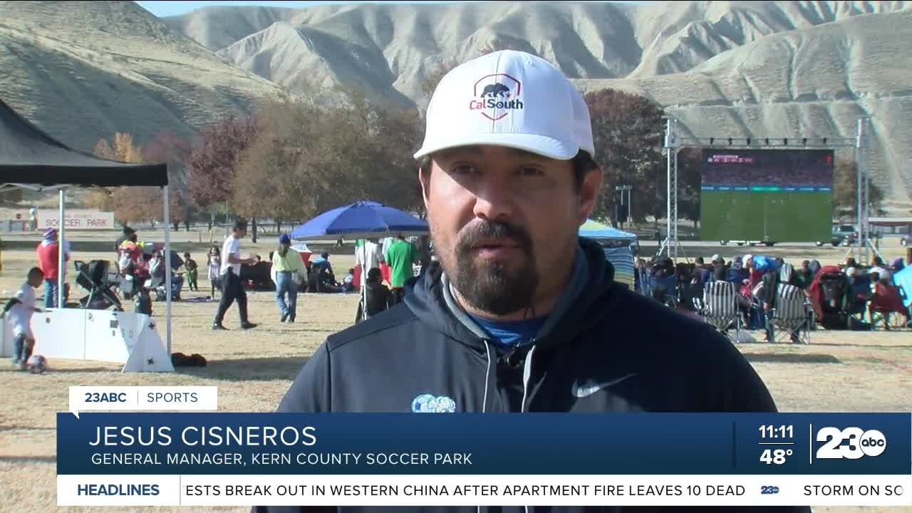
<instances>
[{"instance_id":1,"label":"low white barrier wall beneath the black canopy tent","mask_svg":"<svg viewBox=\"0 0 912 513\"><path fill-rule=\"evenodd\" d=\"M148 315L93 309L47 309L32 316L35 354L66 360L123 363L122 372L174 372L171 355ZM12 327L4 322L0 348L13 354Z\"/></svg>"}]
</instances>

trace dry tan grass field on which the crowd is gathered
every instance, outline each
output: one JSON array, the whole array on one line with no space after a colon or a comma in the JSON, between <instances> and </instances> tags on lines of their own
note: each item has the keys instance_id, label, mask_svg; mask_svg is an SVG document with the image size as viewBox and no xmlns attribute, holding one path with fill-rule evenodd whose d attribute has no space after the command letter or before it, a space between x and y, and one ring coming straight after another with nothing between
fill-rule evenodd
<instances>
[{"instance_id":1,"label":"dry tan grass field on which the crowd is gathered","mask_svg":"<svg viewBox=\"0 0 912 513\"><path fill-rule=\"evenodd\" d=\"M271 242L253 249L265 256ZM193 251L204 264L205 245ZM245 247L250 247L249 244ZM748 248L725 248L747 252ZM751 248L754 249L754 248ZM759 249L759 248L757 248ZM769 248L763 248L764 250ZM776 248L772 248L775 250ZM888 256L898 256L898 247ZM791 249L789 250L792 251ZM808 257L822 262L845 251L808 248ZM765 254L775 251L763 251ZM30 251L5 251L0 274L0 298L5 301L34 265ZM109 257L80 254L80 259ZM334 268L350 267L353 258L334 255ZM203 278L201 288L207 289ZM39 292L40 293L40 292ZM207 293L189 293L184 298ZM74 294L75 296L76 294ZM81 296L81 294L79 295ZM77 296L77 297L79 297ZM231 331L210 330L216 303L173 305L173 348L199 352L203 368L171 374L124 374L119 365L95 361L49 361L42 375L16 372L0 365L0 511L185 511L189 508L57 508L56 421L67 411L70 385L215 385L219 409L226 412L268 412L275 408L308 355L332 332L349 326L355 316L356 295L304 295L298 299L297 322L279 322L272 293L250 296L255 330L237 330L233 308L225 325ZM128 306L131 309L131 305ZM154 303L161 319L164 304ZM755 333L758 338L761 334ZM741 344L783 412L909 412L912 411L912 336L908 330L885 332L814 331L811 345ZM815 508L815 511L899 511L904 508ZM247 511L247 508L194 508L206 511ZM908 510L908 509L905 509Z\"/></svg>"}]
</instances>

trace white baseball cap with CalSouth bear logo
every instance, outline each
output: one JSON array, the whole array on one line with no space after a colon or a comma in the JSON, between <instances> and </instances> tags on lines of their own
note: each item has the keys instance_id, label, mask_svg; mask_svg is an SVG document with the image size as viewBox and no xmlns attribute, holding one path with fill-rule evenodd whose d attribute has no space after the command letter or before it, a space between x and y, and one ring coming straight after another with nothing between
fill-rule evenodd
<instances>
[{"instance_id":1,"label":"white baseball cap with CalSouth bear logo","mask_svg":"<svg viewBox=\"0 0 912 513\"><path fill-rule=\"evenodd\" d=\"M480 144L557 160L596 154L583 95L544 58L515 50L474 58L440 80L415 158Z\"/></svg>"}]
</instances>

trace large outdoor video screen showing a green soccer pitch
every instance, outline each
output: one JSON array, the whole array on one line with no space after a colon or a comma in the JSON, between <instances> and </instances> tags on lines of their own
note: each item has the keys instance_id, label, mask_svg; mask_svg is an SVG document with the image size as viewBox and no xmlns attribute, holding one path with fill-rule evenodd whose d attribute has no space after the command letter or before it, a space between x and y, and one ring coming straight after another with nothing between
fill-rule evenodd
<instances>
[{"instance_id":1,"label":"large outdoor video screen showing a green soccer pitch","mask_svg":"<svg viewBox=\"0 0 912 513\"><path fill-rule=\"evenodd\" d=\"M704 149L701 238L829 240L833 168L832 150Z\"/></svg>"}]
</instances>

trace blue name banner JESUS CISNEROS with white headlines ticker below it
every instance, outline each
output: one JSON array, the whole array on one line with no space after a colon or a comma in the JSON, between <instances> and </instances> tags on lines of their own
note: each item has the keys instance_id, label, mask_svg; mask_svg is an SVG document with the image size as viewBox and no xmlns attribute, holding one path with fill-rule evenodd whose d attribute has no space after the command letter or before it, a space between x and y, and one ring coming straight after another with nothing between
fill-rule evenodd
<instances>
[{"instance_id":1,"label":"blue name banner JESUS CISNEROS with white headlines ticker below it","mask_svg":"<svg viewBox=\"0 0 912 513\"><path fill-rule=\"evenodd\" d=\"M910 414L57 414L57 503L909 506Z\"/></svg>"}]
</instances>

